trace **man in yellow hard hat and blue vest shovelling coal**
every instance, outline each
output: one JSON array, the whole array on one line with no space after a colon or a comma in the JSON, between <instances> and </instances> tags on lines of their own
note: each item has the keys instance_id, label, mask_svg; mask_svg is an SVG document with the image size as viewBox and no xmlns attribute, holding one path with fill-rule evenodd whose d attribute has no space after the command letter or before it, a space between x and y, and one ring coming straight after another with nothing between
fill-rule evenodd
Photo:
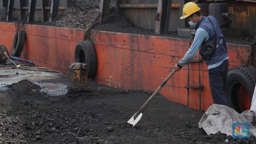
<instances>
[{"instance_id":1,"label":"man in yellow hard hat and blue vest shovelling coal","mask_svg":"<svg viewBox=\"0 0 256 144\"><path fill-rule=\"evenodd\" d=\"M194 2L188 2L183 7L183 14L180 19L185 18L191 27L195 27L196 33L193 44L186 52L184 57L174 66L174 68L176 68L176 71L178 71L182 68L182 66L189 64L193 57L195 57L197 54L197 51L199 50L200 52L200 48L204 46L203 44L209 39L213 38L217 43L215 43L215 50L212 52L213 55L210 57L210 59L202 58L206 65L208 65L211 96L214 103L228 106L225 94L226 79L228 74L226 42L217 20L212 16L202 16L199 10L200 8Z\"/></svg>"}]
</instances>

